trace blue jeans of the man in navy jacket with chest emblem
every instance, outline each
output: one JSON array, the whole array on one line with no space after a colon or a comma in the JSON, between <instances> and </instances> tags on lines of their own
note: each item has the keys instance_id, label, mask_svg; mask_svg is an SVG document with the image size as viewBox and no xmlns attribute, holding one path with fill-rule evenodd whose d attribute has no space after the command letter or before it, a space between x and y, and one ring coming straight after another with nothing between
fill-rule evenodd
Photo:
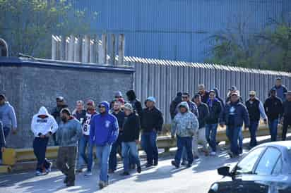
<instances>
[{"instance_id":1,"label":"blue jeans of the man in navy jacket with chest emblem","mask_svg":"<svg viewBox=\"0 0 291 193\"><path fill-rule=\"evenodd\" d=\"M239 132L242 132L242 127L227 126L226 128L226 135L230 141L230 151L232 151L234 155L239 155L239 145L237 144Z\"/></svg>"}]
</instances>

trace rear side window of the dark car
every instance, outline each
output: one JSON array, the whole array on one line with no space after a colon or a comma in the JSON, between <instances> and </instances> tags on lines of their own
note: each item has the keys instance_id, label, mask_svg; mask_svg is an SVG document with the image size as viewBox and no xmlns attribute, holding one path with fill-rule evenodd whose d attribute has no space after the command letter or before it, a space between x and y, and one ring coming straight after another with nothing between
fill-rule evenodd
<instances>
[{"instance_id":1,"label":"rear side window of the dark car","mask_svg":"<svg viewBox=\"0 0 291 193\"><path fill-rule=\"evenodd\" d=\"M256 167L257 175L271 175L278 158L281 157L281 152L274 147L268 147Z\"/></svg>"}]
</instances>

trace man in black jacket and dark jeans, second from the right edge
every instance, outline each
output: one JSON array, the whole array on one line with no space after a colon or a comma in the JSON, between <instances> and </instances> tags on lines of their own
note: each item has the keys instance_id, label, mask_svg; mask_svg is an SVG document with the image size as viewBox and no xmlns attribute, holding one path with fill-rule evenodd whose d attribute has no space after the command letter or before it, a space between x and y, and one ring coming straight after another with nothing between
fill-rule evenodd
<instances>
[{"instance_id":1,"label":"man in black jacket and dark jeans, second from the right edge","mask_svg":"<svg viewBox=\"0 0 291 193\"><path fill-rule=\"evenodd\" d=\"M273 88L271 90L271 96L268 97L263 104L268 117L268 125L272 142L277 141L278 123L283 111L282 100L277 97L276 93L277 90Z\"/></svg>"}]
</instances>

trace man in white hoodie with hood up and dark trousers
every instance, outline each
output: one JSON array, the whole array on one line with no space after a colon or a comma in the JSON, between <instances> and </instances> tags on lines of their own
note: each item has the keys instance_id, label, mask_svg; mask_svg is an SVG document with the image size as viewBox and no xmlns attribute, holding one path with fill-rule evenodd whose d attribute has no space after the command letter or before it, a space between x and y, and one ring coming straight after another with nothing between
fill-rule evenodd
<instances>
[{"instance_id":1,"label":"man in white hoodie with hood up and dark trousers","mask_svg":"<svg viewBox=\"0 0 291 193\"><path fill-rule=\"evenodd\" d=\"M37 158L37 168L35 175L45 175L50 172L52 163L49 163L45 158L47 151L47 143L49 137L58 129L58 125L54 117L47 112L47 108L40 107L35 116L32 118L31 130L35 135L33 141L33 151Z\"/></svg>"}]
</instances>

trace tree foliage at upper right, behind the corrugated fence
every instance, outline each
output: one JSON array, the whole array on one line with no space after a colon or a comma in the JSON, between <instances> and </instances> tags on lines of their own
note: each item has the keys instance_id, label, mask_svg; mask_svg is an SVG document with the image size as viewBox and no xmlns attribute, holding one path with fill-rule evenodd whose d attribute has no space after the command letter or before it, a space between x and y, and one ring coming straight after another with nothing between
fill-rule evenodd
<instances>
[{"instance_id":1,"label":"tree foliage at upper right, behind the corrugated fence","mask_svg":"<svg viewBox=\"0 0 291 193\"><path fill-rule=\"evenodd\" d=\"M259 33L241 22L211 35L214 44L207 62L246 68L291 71L291 22L269 19Z\"/></svg>"}]
</instances>

